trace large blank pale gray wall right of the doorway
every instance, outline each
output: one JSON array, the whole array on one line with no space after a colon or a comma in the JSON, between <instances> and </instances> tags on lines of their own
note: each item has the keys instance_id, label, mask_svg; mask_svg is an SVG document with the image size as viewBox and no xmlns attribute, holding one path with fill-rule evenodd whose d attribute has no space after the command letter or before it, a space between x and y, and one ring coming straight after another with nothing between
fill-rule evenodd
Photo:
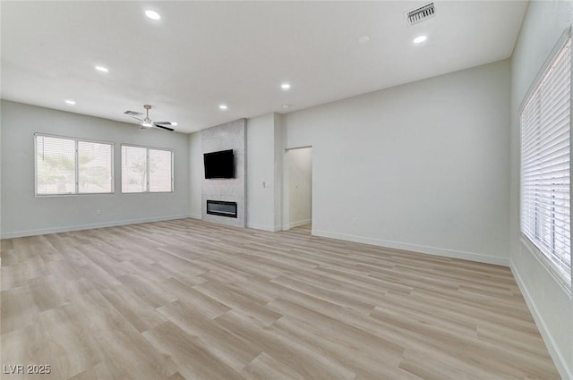
<instances>
[{"instance_id":1,"label":"large blank pale gray wall right of the doorway","mask_svg":"<svg viewBox=\"0 0 573 380\"><path fill-rule=\"evenodd\" d=\"M509 265L509 61L286 114L312 233Z\"/></svg>"}]
</instances>

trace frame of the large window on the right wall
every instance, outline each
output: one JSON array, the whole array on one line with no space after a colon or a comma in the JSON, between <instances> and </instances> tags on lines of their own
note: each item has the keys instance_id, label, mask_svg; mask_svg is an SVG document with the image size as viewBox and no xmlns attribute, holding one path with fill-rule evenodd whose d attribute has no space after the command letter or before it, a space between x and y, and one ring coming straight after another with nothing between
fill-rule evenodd
<instances>
[{"instance_id":1,"label":"frame of the large window on the right wall","mask_svg":"<svg viewBox=\"0 0 573 380\"><path fill-rule=\"evenodd\" d=\"M571 36L571 28L565 30L565 32L561 35L560 39L558 40L557 44L552 49L550 55L548 55L547 59L543 63L541 69L537 73L535 80L532 82L530 88L526 91L525 96L523 97L522 103L518 108L517 118L519 122L519 234L520 234L520 241L526 246L528 250L533 253L533 256L540 262L540 264L545 268L545 270L552 275L553 279L560 284L560 287L569 294L569 297L572 295L573 291L573 266L570 265L569 267L569 274L566 274L566 271L563 271L559 266L557 266L552 258L548 257L546 253L543 252L541 248L537 245L535 241L532 241L525 232L523 232L523 215L522 215L522 191L523 191L523 170L524 170L524 162L523 162L523 122L522 116L528 106L529 101L531 100L532 96L535 95L535 92L539 87L542 85L543 80L545 79L545 75L548 72L550 65L554 62L558 55L562 52L563 48L569 45L569 54L571 56L571 62L569 64L569 72L570 72L570 83L569 83L569 246L570 243L570 234L571 234L571 226L573 225L573 213L571 213L572 199L571 194L573 194L573 182L571 179L571 172L573 171L573 38ZM536 227L537 228L537 227ZM573 254L571 254L571 248L569 247L569 258L573 261ZM568 278L569 277L569 278Z\"/></svg>"}]
</instances>

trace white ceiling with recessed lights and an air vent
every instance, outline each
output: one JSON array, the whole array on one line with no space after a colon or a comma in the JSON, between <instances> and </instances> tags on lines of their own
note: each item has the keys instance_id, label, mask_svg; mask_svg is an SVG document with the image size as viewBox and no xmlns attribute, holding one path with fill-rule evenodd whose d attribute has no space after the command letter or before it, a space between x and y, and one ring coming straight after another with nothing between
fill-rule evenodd
<instances>
[{"instance_id":1,"label":"white ceiling with recessed lights and an air vent","mask_svg":"<svg viewBox=\"0 0 573 380\"><path fill-rule=\"evenodd\" d=\"M408 27L426 3L3 1L2 98L123 122L149 103L154 120L198 131L508 58L527 6L436 0Z\"/></svg>"}]
</instances>

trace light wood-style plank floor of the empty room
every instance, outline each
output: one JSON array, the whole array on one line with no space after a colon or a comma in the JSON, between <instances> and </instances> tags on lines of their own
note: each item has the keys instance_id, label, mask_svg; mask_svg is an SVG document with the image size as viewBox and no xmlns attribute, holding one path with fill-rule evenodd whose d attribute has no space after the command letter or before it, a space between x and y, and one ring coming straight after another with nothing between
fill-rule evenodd
<instances>
[{"instance_id":1,"label":"light wood-style plank floor of the empty room","mask_svg":"<svg viewBox=\"0 0 573 380\"><path fill-rule=\"evenodd\" d=\"M509 268L308 227L4 240L1 307L3 379L559 379Z\"/></svg>"}]
</instances>

